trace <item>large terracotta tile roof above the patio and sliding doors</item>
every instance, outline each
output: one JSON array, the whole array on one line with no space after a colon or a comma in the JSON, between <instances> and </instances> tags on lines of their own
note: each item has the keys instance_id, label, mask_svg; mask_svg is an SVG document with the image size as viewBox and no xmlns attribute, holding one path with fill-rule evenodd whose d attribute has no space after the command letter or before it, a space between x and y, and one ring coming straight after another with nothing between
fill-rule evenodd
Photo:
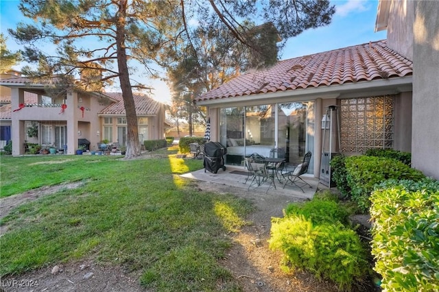
<instances>
[{"instance_id":1,"label":"large terracotta tile roof above the patio and sliding doors","mask_svg":"<svg viewBox=\"0 0 439 292\"><path fill-rule=\"evenodd\" d=\"M195 101L383 80L412 73L412 61L388 48L386 40L379 40L282 60L269 69L235 77L195 97Z\"/></svg>"}]
</instances>

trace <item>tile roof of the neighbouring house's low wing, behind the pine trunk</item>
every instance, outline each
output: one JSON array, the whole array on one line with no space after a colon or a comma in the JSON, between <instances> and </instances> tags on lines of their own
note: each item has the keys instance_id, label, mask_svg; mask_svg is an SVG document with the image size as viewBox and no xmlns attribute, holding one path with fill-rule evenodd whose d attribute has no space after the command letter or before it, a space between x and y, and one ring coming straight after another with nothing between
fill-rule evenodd
<instances>
[{"instance_id":1,"label":"tile roof of the neighbouring house's low wing, behind the pine trunk","mask_svg":"<svg viewBox=\"0 0 439 292\"><path fill-rule=\"evenodd\" d=\"M117 100L114 104L110 104L101 110L99 114L118 114L126 115L125 106L123 105L122 93L104 93L108 97ZM153 115L157 114L161 108L161 103L146 95L133 93L134 104L138 115Z\"/></svg>"}]
</instances>

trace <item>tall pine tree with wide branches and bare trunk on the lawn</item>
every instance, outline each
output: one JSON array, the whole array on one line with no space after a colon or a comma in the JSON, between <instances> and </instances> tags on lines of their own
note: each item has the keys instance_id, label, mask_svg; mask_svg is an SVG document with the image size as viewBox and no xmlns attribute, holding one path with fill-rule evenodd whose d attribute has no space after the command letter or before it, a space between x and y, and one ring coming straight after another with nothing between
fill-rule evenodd
<instances>
[{"instance_id":1,"label":"tall pine tree with wide branches and bare trunk on the lawn","mask_svg":"<svg viewBox=\"0 0 439 292\"><path fill-rule=\"evenodd\" d=\"M222 25L252 49L252 64L270 64L276 60L273 47L257 41L263 33L236 19L272 23L286 40L303 29L328 24L334 13L328 0L21 0L19 8L34 23L19 23L9 32L25 44L25 60L38 64L23 73L57 76L63 86L83 90L97 90L119 78L128 125L126 158L141 154L132 88L145 88L132 84L131 60L141 62L154 77L152 62L168 64L180 59L180 49L198 49L193 45L194 27L215 32ZM189 25L192 19L198 19L198 25ZM44 53L40 40L56 45L56 54ZM93 78L80 79L84 72Z\"/></svg>"}]
</instances>

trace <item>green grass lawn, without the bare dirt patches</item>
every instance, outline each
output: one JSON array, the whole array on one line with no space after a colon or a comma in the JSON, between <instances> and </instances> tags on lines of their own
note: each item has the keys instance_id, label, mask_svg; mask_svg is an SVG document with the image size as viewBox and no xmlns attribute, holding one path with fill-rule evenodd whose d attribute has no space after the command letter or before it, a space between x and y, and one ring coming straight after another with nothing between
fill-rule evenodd
<instances>
[{"instance_id":1,"label":"green grass lawn, without the bare dirt patches","mask_svg":"<svg viewBox=\"0 0 439 292\"><path fill-rule=\"evenodd\" d=\"M94 258L141 271L140 282L156 291L239 291L217 260L231 244L224 234L246 224L253 207L180 178L202 168L202 160L175 153L128 161L2 156L3 197L61 182L84 185L23 204L1 221L10 231L0 237L0 275Z\"/></svg>"}]
</instances>

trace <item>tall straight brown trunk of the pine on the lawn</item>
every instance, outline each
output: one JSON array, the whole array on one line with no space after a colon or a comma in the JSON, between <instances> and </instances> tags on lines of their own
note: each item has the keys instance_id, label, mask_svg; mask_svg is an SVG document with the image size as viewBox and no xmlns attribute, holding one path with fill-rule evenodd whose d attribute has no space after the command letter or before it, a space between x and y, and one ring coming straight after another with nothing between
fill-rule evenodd
<instances>
[{"instance_id":1,"label":"tall straight brown trunk of the pine on the lawn","mask_svg":"<svg viewBox=\"0 0 439 292\"><path fill-rule=\"evenodd\" d=\"M122 90L123 105L125 106L127 122L126 154L125 158L130 159L141 155L139 141L139 129L137 127L136 106L132 97L130 75L125 46L126 26L126 0L119 1L119 18L116 22L116 43L117 43L117 66L119 69L119 82Z\"/></svg>"}]
</instances>

